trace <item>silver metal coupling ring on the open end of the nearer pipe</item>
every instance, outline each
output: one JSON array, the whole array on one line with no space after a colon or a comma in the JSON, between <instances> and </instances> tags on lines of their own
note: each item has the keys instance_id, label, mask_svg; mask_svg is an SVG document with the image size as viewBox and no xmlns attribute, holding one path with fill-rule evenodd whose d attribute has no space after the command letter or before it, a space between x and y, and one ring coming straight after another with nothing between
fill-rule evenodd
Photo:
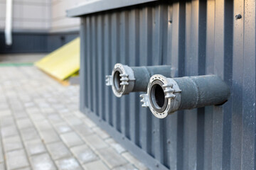
<instances>
[{"instance_id":1,"label":"silver metal coupling ring on the open end of the nearer pipe","mask_svg":"<svg viewBox=\"0 0 256 170\"><path fill-rule=\"evenodd\" d=\"M156 118L166 118L178 110L181 103L181 89L174 79L155 74L150 78L147 94L142 94L142 107L149 106Z\"/></svg>"}]
</instances>

